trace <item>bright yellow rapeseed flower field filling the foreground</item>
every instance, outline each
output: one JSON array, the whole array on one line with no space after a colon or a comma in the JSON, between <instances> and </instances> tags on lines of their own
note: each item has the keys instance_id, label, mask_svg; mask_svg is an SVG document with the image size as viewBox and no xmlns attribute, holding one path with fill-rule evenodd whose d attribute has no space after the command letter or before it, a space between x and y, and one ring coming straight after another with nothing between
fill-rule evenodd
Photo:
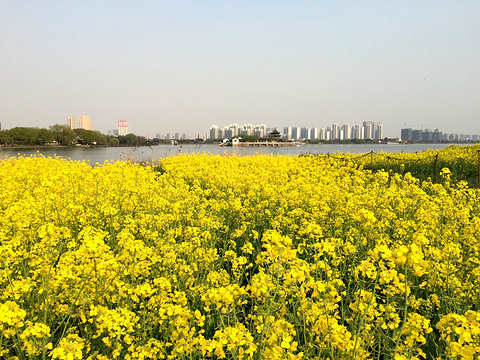
<instances>
[{"instance_id":1,"label":"bright yellow rapeseed flower field filling the foreground","mask_svg":"<svg viewBox=\"0 0 480 360\"><path fill-rule=\"evenodd\" d=\"M367 165L0 161L0 358L478 359L480 191Z\"/></svg>"}]
</instances>

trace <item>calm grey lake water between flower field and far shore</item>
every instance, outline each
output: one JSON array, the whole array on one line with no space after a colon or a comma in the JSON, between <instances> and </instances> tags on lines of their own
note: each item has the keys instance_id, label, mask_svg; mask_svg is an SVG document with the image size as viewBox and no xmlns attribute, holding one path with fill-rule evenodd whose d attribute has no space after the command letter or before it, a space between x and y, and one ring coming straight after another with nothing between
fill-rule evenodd
<instances>
[{"instance_id":1,"label":"calm grey lake water between flower field and far shore","mask_svg":"<svg viewBox=\"0 0 480 360\"><path fill-rule=\"evenodd\" d=\"M168 156L178 154L213 154L213 155L238 155L249 156L261 155L301 155L301 154L332 154L332 153L354 153L361 154L370 151L374 152L421 152L427 149L443 149L451 144L318 144L298 145L292 147L224 147L218 145L158 145L152 147L98 147L98 148L4 148L0 147L0 159L12 156L30 156L42 154L47 157L60 156L64 159L85 160L91 164L102 164L108 161L158 161Z\"/></svg>"}]
</instances>

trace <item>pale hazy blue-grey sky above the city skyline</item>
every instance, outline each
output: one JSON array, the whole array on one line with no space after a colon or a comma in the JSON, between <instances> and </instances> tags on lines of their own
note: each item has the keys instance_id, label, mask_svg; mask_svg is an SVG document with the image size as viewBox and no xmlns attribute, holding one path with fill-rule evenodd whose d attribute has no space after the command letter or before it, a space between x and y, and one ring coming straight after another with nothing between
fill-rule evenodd
<instances>
[{"instance_id":1,"label":"pale hazy blue-grey sky above the city skyline","mask_svg":"<svg viewBox=\"0 0 480 360\"><path fill-rule=\"evenodd\" d=\"M2 128L480 133L480 1L0 0Z\"/></svg>"}]
</instances>

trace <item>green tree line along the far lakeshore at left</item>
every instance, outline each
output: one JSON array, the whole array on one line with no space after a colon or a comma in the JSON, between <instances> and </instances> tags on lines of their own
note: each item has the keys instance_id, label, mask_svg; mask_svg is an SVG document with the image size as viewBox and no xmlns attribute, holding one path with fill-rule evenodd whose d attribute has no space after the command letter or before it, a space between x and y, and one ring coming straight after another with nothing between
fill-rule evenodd
<instances>
[{"instance_id":1,"label":"green tree line along the far lakeshore at left","mask_svg":"<svg viewBox=\"0 0 480 360\"><path fill-rule=\"evenodd\" d=\"M14 127L9 130L0 130L0 145L3 146L145 146L152 141L127 134L125 136L104 135L99 131L85 129L71 129L68 125L52 125L48 129L37 127Z\"/></svg>"}]
</instances>

